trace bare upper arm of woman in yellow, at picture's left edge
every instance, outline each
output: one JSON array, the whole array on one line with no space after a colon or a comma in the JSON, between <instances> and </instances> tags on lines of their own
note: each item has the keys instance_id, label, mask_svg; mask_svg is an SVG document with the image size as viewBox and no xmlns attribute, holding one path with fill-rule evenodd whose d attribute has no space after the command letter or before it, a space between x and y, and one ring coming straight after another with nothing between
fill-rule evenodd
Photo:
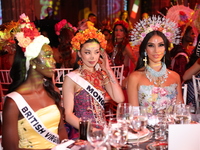
<instances>
[{"instance_id":1,"label":"bare upper arm of woman in yellow, at picture's left edge","mask_svg":"<svg viewBox=\"0 0 200 150\"><path fill-rule=\"evenodd\" d=\"M15 102L7 97L3 107L2 146L4 150L17 150L19 110Z\"/></svg>"}]
</instances>

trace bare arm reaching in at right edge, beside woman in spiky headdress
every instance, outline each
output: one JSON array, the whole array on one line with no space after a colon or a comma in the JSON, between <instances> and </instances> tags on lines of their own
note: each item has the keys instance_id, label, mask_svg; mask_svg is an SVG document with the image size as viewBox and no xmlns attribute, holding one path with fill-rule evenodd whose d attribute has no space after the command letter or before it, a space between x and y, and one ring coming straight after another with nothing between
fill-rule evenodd
<instances>
[{"instance_id":1,"label":"bare arm reaching in at right edge, beside woman in spiky headdress","mask_svg":"<svg viewBox=\"0 0 200 150\"><path fill-rule=\"evenodd\" d=\"M200 71L200 58L188 69L183 75L183 80L190 80L192 75L196 75Z\"/></svg>"}]
</instances>

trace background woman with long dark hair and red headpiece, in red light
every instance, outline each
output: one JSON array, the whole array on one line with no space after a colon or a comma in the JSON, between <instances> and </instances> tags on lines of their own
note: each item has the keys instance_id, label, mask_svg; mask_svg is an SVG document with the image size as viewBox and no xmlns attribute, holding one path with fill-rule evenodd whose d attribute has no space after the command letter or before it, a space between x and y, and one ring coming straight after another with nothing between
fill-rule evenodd
<instances>
[{"instance_id":1,"label":"background woman with long dark hair and red headpiece, in red light","mask_svg":"<svg viewBox=\"0 0 200 150\"><path fill-rule=\"evenodd\" d=\"M123 20L115 22L112 37L112 43L114 45L111 56L112 65L119 66L124 64L124 77L127 77L130 72L129 62L132 62L133 64L136 63L129 44L128 27L128 23Z\"/></svg>"}]
</instances>

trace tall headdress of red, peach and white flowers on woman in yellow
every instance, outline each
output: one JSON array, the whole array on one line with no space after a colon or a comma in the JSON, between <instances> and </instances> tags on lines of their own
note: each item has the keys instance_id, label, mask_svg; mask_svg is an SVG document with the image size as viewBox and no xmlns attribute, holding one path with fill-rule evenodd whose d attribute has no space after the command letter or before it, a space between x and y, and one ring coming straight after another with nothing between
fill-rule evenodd
<instances>
[{"instance_id":1,"label":"tall headdress of red, peach and white flowers on woman in yellow","mask_svg":"<svg viewBox=\"0 0 200 150\"><path fill-rule=\"evenodd\" d=\"M30 60L36 58L44 44L49 44L49 39L40 35L34 23L24 13L20 15L18 31L15 35L18 45L26 57L26 70L29 70Z\"/></svg>"}]
</instances>

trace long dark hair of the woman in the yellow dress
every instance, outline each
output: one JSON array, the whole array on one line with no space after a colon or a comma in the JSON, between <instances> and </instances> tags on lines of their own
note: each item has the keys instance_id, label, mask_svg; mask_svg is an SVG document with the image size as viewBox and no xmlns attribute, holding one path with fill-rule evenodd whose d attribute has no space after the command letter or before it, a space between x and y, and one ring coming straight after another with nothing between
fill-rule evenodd
<instances>
[{"instance_id":1,"label":"long dark hair of the woman in the yellow dress","mask_svg":"<svg viewBox=\"0 0 200 150\"><path fill-rule=\"evenodd\" d=\"M28 75L28 72L26 72L26 57L21 47L16 44L16 54L10 70L12 83L9 86L8 93L15 91L26 80L26 74ZM54 84L51 78L45 78L44 89L54 99L56 105L60 106L61 96L54 90Z\"/></svg>"}]
</instances>

